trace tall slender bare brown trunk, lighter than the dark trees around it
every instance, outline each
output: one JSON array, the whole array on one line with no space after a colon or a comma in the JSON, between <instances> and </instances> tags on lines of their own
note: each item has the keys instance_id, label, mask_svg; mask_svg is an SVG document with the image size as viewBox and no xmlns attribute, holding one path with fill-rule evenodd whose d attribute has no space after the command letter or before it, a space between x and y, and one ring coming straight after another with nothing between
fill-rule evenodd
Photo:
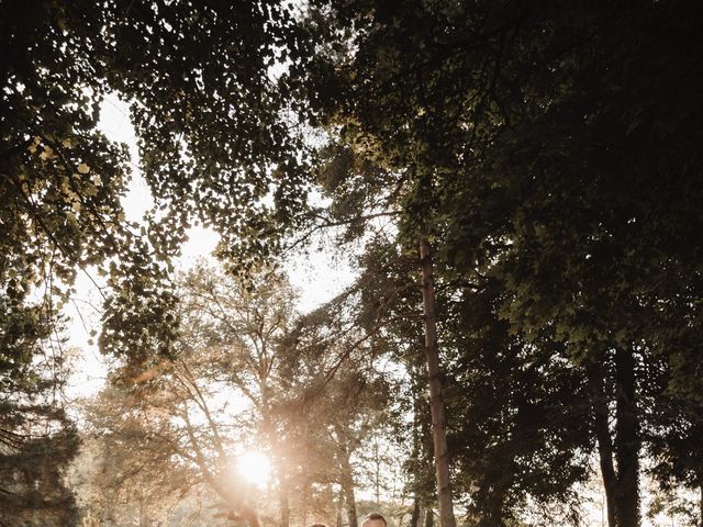
<instances>
[{"instance_id":1,"label":"tall slender bare brown trunk, lighter than the dark trees around it","mask_svg":"<svg viewBox=\"0 0 703 527\"><path fill-rule=\"evenodd\" d=\"M425 318L425 355L429 378L429 408L437 476L437 498L442 527L456 527L451 487L449 485L449 460L447 456L447 422L439 378L439 350L437 349L437 316L435 305L434 277L429 243L426 237L420 242L422 266L422 299Z\"/></svg>"}]
</instances>

